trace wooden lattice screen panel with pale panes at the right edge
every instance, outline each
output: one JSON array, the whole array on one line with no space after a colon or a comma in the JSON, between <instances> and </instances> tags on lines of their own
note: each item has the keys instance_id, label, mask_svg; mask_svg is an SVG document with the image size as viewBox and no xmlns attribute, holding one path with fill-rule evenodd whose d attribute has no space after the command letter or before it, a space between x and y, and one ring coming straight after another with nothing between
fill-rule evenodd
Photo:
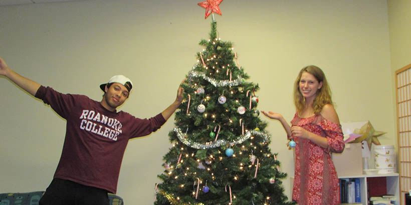
<instances>
[{"instance_id":1,"label":"wooden lattice screen panel with pale panes at the right edge","mask_svg":"<svg viewBox=\"0 0 411 205\"><path fill-rule=\"evenodd\" d=\"M411 189L411 64L395 71L400 203Z\"/></svg>"}]
</instances>

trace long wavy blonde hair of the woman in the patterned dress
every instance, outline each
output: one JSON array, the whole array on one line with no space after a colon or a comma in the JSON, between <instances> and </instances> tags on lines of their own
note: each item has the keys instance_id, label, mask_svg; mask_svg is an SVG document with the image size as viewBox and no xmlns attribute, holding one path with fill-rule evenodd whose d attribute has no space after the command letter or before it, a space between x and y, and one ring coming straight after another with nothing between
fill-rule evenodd
<instances>
[{"instance_id":1,"label":"long wavy blonde hair of the woman in the patterned dress","mask_svg":"<svg viewBox=\"0 0 411 205\"><path fill-rule=\"evenodd\" d=\"M322 82L322 87L317 90L316 96L314 98L313 102L313 110L315 114L320 113L322 107L325 104L333 104L332 99L331 99L331 90L328 85L327 79L325 78L324 72L321 70L321 68L315 66L315 65L308 65L306 67L303 67L300 70L300 73L297 76L297 79L295 80L294 83L294 104L295 108L297 109L297 112L300 113L301 111L304 110L305 108L305 98L300 92L300 79L301 75L303 72L308 72L317 79L318 82Z\"/></svg>"}]
</instances>

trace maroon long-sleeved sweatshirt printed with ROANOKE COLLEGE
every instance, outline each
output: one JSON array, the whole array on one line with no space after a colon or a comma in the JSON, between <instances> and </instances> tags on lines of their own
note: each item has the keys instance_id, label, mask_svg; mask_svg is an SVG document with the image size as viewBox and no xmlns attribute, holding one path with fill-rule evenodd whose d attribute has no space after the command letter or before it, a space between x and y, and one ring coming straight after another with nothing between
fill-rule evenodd
<instances>
[{"instance_id":1,"label":"maroon long-sleeved sweatshirt printed with ROANOKE COLLEGE","mask_svg":"<svg viewBox=\"0 0 411 205\"><path fill-rule=\"evenodd\" d=\"M55 178L75 181L116 193L120 165L130 138L160 128L161 113L140 119L112 112L85 95L63 94L41 86L35 95L67 120L66 137Z\"/></svg>"}]
</instances>

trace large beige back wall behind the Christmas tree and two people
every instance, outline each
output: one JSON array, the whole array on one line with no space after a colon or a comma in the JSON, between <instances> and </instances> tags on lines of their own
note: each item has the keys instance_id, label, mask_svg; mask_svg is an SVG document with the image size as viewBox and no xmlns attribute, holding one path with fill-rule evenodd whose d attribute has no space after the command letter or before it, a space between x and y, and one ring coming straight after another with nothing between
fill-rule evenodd
<instances>
[{"instance_id":1,"label":"large beige back wall behind the Christmas tree and two people","mask_svg":"<svg viewBox=\"0 0 411 205\"><path fill-rule=\"evenodd\" d=\"M199 1L198 1L199 2ZM211 18L193 0L87 0L0 7L0 56L19 73L61 92L100 100L98 84L118 73L134 89L121 107L139 117L162 111L195 63ZM386 0L226 0L216 16L223 40L259 83L259 108L294 114L291 92L301 67L316 64L331 84L340 120L370 120L395 144ZM391 19L390 19L391 20ZM399 63L399 64L402 64ZM44 190L53 177L65 121L0 78L0 192ZM277 121L270 147L293 175L293 154ZM170 119L127 146L118 194L150 204L170 143ZM291 186L284 179L286 193Z\"/></svg>"}]
</instances>

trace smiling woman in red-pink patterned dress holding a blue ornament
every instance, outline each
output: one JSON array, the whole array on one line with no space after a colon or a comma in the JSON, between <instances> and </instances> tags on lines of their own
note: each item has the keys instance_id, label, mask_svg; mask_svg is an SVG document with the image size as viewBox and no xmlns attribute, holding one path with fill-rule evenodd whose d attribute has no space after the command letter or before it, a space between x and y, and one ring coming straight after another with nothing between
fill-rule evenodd
<instances>
[{"instance_id":1,"label":"smiling woman in red-pink patterned dress holding a blue ornament","mask_svg":"<svg viewBox=\"0 0 411 205\"><path fill-rule=\"evenodd\" d=\"M293 200L303 204L338 204L340 188L331 152L344 150L343 134L324 72L303 67L294 83L296 113L291 127L280 113L264 115L279 120L287 138L294 140Z\"/></svg>"}]
</instances>

